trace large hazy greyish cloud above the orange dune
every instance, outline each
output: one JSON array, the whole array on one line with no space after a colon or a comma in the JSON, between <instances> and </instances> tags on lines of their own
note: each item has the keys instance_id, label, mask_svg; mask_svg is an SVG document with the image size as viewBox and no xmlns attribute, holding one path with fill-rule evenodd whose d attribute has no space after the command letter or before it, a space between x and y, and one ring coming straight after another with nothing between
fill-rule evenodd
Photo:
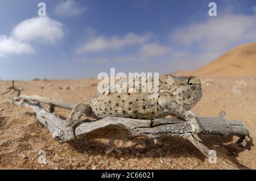
<instances>
[{"instance_id":1,"label":"large hazy greyish cloud above the orange dune","mask_svg":"<svg viewBox=\"0 0 256 181\"><path fill-rule=\"evenodd\" d=\"M222 51L230 45L256 40L255 15L225 15L204 23L180 28L171 39L182 45L200 45L201 49Z\"/></svg>"}]
</instances>

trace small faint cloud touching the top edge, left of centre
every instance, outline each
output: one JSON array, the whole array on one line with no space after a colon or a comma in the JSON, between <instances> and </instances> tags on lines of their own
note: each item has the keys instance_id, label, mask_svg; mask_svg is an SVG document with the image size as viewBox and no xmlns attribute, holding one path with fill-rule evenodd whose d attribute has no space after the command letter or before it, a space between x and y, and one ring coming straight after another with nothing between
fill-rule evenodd
<instances>
[{"instance_id":1,"label":"small faint cloud touching the top edge, left of centre","mask_svg":"<svg viewBox=\"0 0 256 181\"><path fill-rule=\"evenodd\" d=\"M63 1L59 3L54 10L54 14L58 16L77 16L82 14L86 7L79 7L74 1Z\"/></svg>"}]
</instances>

